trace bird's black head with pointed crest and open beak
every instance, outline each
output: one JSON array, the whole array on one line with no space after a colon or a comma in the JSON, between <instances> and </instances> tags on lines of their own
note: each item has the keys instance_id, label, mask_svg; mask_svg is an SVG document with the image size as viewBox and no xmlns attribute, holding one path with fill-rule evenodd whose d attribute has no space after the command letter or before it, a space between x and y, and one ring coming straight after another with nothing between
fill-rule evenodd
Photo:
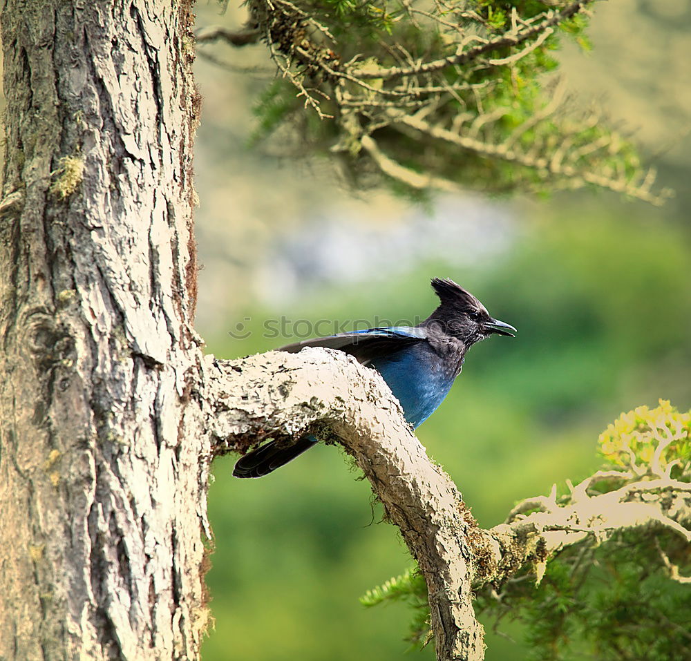
<instances>
[{"instance_id":1,"label":"bird's black head with pointed crest and open beak","mask_svg":"<svg viewBox=\"0 0 691 661\"><path fill-rule=\"evenodd\" d=\"M438 324L446 334L452 335L469 347L492 335L515 337L516 329L493 318L486 307L470 291L448 278L433 278L432 288L441 303L428 319Z\"/></svg>"}]
</instances>

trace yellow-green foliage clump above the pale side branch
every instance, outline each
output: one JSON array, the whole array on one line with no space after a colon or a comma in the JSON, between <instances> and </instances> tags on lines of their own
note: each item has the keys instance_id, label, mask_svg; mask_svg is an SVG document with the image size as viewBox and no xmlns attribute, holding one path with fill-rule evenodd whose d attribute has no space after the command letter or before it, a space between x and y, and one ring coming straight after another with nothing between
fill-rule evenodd
<instances>
[{"instance_id":1,"label":"yellow-green foliage clump above the pale side branch","mask_svg":"<svg viewBox=\"0 0 691 661\"><path fill-rule=\"evenodd\" d=\"M669 401L660 400L656 408L638 406L622 413L598 439L607 461L623 468L654 468L678 471L691 469L691 411L679 413Z\"/></svg>"}]
</instances>

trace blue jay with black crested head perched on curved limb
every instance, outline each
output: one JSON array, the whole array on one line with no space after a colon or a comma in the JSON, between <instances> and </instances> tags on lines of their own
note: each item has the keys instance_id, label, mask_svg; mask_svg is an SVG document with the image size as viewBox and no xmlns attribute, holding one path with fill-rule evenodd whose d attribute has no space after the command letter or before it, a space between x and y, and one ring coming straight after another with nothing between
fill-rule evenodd
<instances>
[{"instance_id":1,"label":"blue jay with black crested head perched on curved limb","mask_svg":"<svg viewBox=\"0 0 691 661\"><path fill-rule=\"evenodd\" d=\"M417 428L437 410L461 373L468 349L492 334L515 337L516 329L495 319L469 291L448 278L431 281L439 305L417 326L386 326L312 338L281 347L299 352L326 347L350 354L377 370L401 403L406 421ZM313 448L305 434L287 445L283 439L240 457L235 477L263 477Z\"/></svg>"}]
</instances>

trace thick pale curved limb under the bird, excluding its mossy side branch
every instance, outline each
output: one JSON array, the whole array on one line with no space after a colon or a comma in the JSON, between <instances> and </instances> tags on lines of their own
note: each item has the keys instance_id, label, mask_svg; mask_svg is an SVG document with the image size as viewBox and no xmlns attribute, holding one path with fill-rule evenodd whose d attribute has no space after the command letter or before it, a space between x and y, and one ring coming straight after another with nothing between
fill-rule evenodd
<instances>
[{"instance_id":1,"label":"thick pale curved limb under the bird, excluding its mossy side branch","mask_svg":"<svg viewBox=\"0 0 691 661\"><path fill-rule=\"evenodd\" d=\"M467 544L474 519L377 372L341 352L304 349L242 361L209 358L203 382L217 453L305 430L343 443L424 573L437 659L484 658Z\"/></svg>"}]
</instances>

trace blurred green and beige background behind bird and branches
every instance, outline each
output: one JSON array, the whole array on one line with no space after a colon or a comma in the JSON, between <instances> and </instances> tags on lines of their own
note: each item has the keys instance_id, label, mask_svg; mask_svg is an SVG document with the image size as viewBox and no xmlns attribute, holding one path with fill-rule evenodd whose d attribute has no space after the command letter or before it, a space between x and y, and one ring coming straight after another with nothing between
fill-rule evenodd
<instances>
[{"instance_id":1,"label":"blurred green and beige background behind bird and branches","mask_svg":"<svg viewBox=\"0 0 691 661\"><path fill-rule=\"evenodd\" d=\"M198 26L243 21L216 3L197 13ZM291 340L267 320L415 321L435 305L430 277L468 287L518 338L473 347L418 436L484 527L597 468L597 435L622 410L659 397L688 409L690 28L685 0L598 3L594 51L562 52L574 104L595 99L625 122L676 189L663 209L592 191L442 197L428 209L350 195L328 163L296 160L285 136L248 148L252 99L273 71L263 47L205 47L228 65L200 58L197 72L198 329L209 352L234 358ZM368 483L333 447L261 480L233 479L233 463L216 461L209 492L216 626L204 661L403 658L404 606L357 601L409 564ZM488 661L524 658L521 632L504 632L513 641L488 635ZM408 656L433 658L432 647Z\"/></svg>"}]
</instances>

